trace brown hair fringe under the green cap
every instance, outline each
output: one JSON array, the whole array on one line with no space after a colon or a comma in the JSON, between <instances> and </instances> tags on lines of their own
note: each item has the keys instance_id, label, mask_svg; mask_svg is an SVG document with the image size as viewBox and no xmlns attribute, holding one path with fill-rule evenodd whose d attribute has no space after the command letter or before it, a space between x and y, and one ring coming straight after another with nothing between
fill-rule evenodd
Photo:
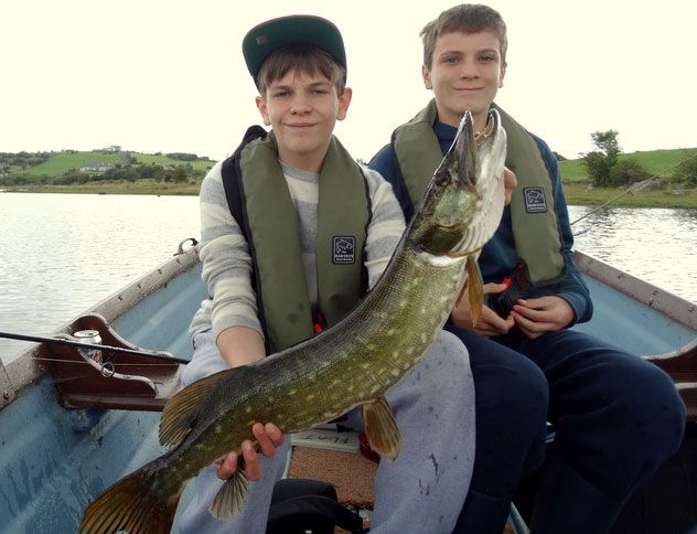
<instances>
[{"instance_id":1,"label":"brown hair fringe under the green cap","mask_svg":"<svg viewBox=\"0 0 697 534\"><path fill-rule=\"evenodd\" d=\"M266 97L269 85L281 79L292 68L305 74L320 72L334 85L336 96L341 96L346 88L346 70L331 54L310 44L291 44L271 52L264 60L257 75L260 95Z\"/></svg>"}]
</instances>

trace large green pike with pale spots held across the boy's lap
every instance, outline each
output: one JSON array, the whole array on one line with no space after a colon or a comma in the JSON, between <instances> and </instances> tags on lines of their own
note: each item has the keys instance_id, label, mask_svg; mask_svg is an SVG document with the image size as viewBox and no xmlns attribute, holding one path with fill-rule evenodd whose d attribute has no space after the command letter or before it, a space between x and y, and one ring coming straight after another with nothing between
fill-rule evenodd
<instances>
[{"instance_id":1,"label":"large green pike with pale spots held across the boy's lap","mask_svg":"<svg viewBox=\"0 0 697 534\"><path fill-rule=\"evenodd\" d=\"M362 406L373 449L397 458L399 429L385 392L431 345L468 278L470 303L481 309L475 260L498 226L504 203L506 139L495 110L483 137L478 148L465 114L380 280L344 320L174 395L160 420L160 442L174 448L99 495L85 511L81 532L169 532L185 483L239 450L245 439L254 440L256 421L275 423L288 434ZM213 515L237 514L247 484L239 469L211 504Z\"/></svg>"}]
</instances>

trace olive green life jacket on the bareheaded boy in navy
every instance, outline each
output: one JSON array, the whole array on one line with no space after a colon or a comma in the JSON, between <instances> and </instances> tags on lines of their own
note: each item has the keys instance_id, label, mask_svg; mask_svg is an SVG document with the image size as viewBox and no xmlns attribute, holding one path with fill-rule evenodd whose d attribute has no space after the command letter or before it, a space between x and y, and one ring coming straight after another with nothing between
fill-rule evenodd
<instances>
[{"instance_id":1,"label":"olive green life jacket on the bareheaded boy in navy","mask_svg":"<svg viewBox=\"0 0 697 534\"><path fill-rule=\"evenodd\" d=\"M565 271L562 241L549 169L535 139L507 113L492 104L501 115L507 137L506 167L518 181L511 197L511 222L519 260L536 286L557 281ZM393 148L411 204L418 206L433 171L443 158L433 124L436 100L393 134Z\"/></svg>"}]
</instances>

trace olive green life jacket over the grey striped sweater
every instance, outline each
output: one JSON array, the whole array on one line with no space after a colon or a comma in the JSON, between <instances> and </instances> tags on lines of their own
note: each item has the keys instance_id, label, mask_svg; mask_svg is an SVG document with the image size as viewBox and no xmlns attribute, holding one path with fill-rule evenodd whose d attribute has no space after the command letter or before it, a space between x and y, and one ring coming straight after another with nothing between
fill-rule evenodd
<instances>
[{"instance_id":1,"label":"olive green life jacket over the grey striped sweater","mask_svg":"<svg viewBox=\"0 0 697 534\"><path fill-rule=\"evenodd\" d=\"M320 173L319 310L312 310L298 214L277 158L274 132L267 136L257 126L247 130L242 146L223 163L228 206L249 245L253 286L270 352L311 338L315 311L322 325L331 327L356 306L366 287L363 248L371 218L363 172L332 137Z\"/></svg>"}]
</instances>

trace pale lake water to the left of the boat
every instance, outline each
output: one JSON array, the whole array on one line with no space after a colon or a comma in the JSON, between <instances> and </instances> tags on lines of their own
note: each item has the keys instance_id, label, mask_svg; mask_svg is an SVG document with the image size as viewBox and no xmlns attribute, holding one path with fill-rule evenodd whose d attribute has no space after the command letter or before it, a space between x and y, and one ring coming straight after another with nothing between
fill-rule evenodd
<instances>
[{"instance_id":1,"label":"pale lake water to the left of the boat","mask_svg":"<svg viewBox=\"0 0 697 534\"><path fill-rule=\"evenodd\" d=\"M196 196L0 193L0 331L51 335L200 236ZM0 339L0 356L30 343Z\"/></svg>"}]
</instances>

